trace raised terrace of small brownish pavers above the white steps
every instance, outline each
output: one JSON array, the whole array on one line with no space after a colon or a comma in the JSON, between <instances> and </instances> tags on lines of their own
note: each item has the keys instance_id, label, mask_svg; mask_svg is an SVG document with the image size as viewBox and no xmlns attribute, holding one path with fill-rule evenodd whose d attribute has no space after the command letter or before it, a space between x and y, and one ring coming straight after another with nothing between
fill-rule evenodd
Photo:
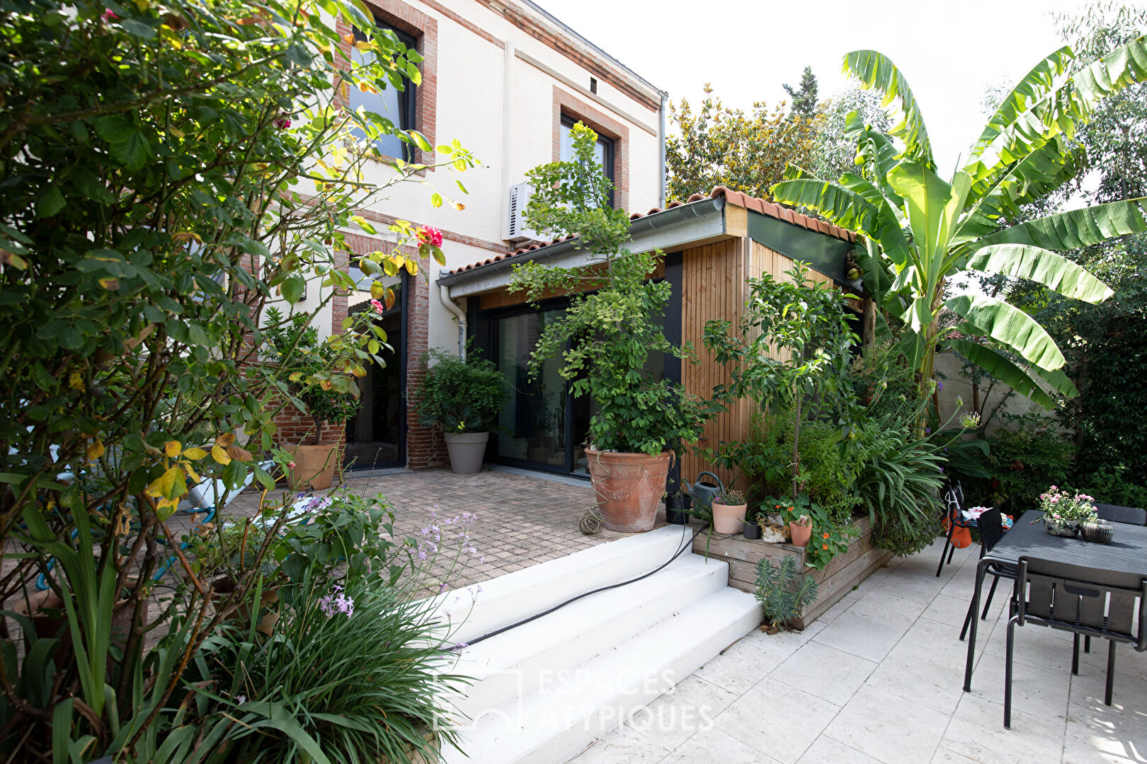
<instances>
[{"instance_id":1,"label":"raised terrace of small brownish pavers above the white steps","mask_svg":"<svg viewBox=\"0 0 1147 764\"><path fill-rule=\"evenodd\" d=\"M477 521L470 539L478 557L455 575L451 586L473 584L504 573L537 565L578 550L622 538L626 534L602 529L586 536L578 521L594 504L588 482L574 483L514 472L484 470L455 475L448 470L418 472L349 472L345 489L365 496L383 494L395 512L395 535L411 536L430 522L429 509L439 517L473 512ZM333 490L338 490L336 486ZM322 496L329 491L315 491ZM229 509L253 513L259 494L248 490ZM484 558L484 559L482 559ZM438 570L435 570L438 573Z\"/></svg>"}]
</instances>

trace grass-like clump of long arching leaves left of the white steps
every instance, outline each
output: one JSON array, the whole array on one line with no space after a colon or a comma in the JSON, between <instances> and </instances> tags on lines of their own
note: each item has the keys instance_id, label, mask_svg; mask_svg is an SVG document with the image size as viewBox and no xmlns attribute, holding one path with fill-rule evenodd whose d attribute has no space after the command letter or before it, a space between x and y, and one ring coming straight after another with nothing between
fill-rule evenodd
<instances>
[{"instance_id":1,"label":"grass-like clump of long arching leaves left of the white steps","mask_svg":"<svg viewBox=\"0 0 1147 764\"><path fill-rule=\"evenodd\" d=\"M203 682L202 726L221 741L196 761L434 759L427 732L450 714L440 691L462 680L428 605L383 583L307 578L280 589L273 636L232 625L209 639L188 678Z\"/></svg>"}]
</instances>

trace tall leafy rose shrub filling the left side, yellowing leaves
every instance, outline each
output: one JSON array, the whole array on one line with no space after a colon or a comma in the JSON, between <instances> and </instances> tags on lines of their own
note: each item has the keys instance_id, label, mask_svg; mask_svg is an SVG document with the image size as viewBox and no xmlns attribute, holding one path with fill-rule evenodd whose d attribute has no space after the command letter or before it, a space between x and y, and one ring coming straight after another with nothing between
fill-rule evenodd
<instances>
[{"instance_id":1,"label":"tall leafy rose shrub filling the left side, yellowing leaves","mask_svg":"<svg viewBox=\"0 0 1147 764\"><path fill-rule=\"evenodd\" d=\"M375 63L349 68L338 17L364 29ZM346 87L420 79L419 54L373 29L358 0L0 0L0 599L24 600L42 574L73 635L42 664L48 682L28 685L48 692L25 695L0 674L6 758L166 762L210 747L161 709L186 714L174 693L187 656L251 594L267 546L171 560L167 520L200 479L234 488L253 474L273 490L279 468L248 449L272 446L294 393L259 356L265 309L318 315L353 286L344 231L373 233L357 210L385 187L426 182L423 167L393 162L382 188L365 181L381 157L354 131L368 143L426 139L336 107ZM457 143L436 156L474 164ZM398 246L440 257L409 223L392 229ZM400 260L374 252L360 265ZM345 394L381 361L376 332L327 345L297 383ZM264 538L290 501L264 498ZM200 530L233 544L232 518L217 513ZM232 593L210 592L217 574ZM123 644L109 639L114 617L131 627ZM5 635L6 654L19 639Z\"/></svg>"}]
</instances>

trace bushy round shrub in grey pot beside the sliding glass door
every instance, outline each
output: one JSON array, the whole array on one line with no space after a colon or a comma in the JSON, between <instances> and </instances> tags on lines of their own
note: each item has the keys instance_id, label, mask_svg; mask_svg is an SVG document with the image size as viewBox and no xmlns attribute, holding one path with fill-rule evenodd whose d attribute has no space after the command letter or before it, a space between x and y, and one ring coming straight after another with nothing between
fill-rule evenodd
<instances>
[{"instance_id":1,"label":"bushy round shrub in grey pot beside the sliding glass door","mask_svg":"<svg viewBox=\"0 0 1147 764\"><path fill-rule=\"evenodd\" d=\"M473 353L460 359L434 348L422 362L427 372L418 403L420 422L442 432L451 471L479 471L490 431L506 401L506 378L492 361Z\"/></svg>"}]
</instances>

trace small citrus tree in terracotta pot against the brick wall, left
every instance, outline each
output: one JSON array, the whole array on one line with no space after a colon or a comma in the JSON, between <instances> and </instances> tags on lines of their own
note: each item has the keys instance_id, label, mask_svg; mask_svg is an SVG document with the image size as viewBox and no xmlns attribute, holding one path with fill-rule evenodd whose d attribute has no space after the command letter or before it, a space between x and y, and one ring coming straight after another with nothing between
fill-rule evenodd
<instances>
[{"instance_id":1,"label":"small citrus tree in terracotta pot against the brick wall, left","mask_svg":"<svg viewBox=\"0 0 1147 764\"><path fill-rule=\"evenodd\" d=\"M313 381L313 377L329 370L335 351L319 340L318 330L310 324L309 314L284 318L278 308L267 309L264 330L266 355L279 363L279 375L284 380L289 403L310 416L313 442L284 443L291 455L287 482L294 488L321 490L330 488L338 467L337 430L334 440L323 442L323 425L341 425L358 411L357 387L346 377L345 385Z\"/></svg>"}]
</instances>

